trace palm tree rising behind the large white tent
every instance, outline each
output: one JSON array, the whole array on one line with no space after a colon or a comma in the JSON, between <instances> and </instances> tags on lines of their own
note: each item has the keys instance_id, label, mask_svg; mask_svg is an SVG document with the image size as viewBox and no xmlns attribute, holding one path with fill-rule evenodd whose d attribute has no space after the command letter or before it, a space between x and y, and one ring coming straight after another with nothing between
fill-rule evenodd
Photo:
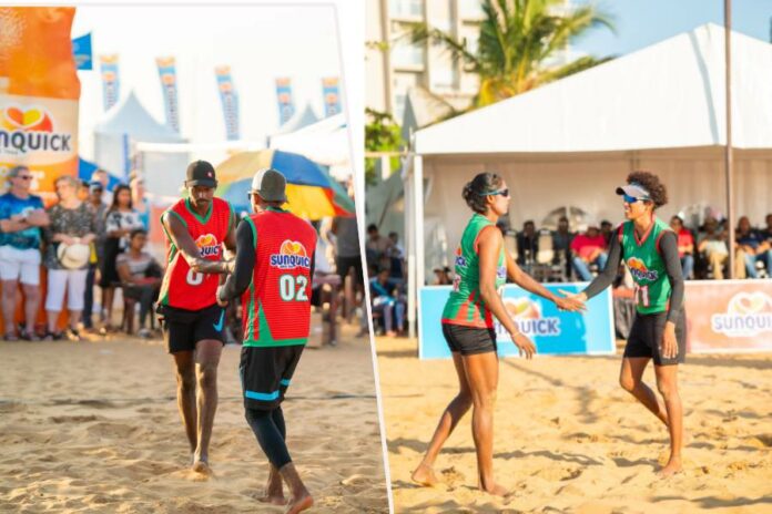
<instances>
[{"instance_id":1,"label":"palm tree rising behind the large white tent","mask_svg":"<svg viewBox=\"0 0 772 514\"><path fill-rule=\"evenodd\" d=\"M557 53L572 38L598 27L613 31L611 18L595 6L565 9L563 4L563 0L482 0L485 17L475 53L465 40L429 29L426 23L416 23L408 37L413 43L444 45L461 60L465 71L479 75L479 91L473 102L479 107L612 59L586 55L555 64Z\"/></svg>"}]
</instances>

